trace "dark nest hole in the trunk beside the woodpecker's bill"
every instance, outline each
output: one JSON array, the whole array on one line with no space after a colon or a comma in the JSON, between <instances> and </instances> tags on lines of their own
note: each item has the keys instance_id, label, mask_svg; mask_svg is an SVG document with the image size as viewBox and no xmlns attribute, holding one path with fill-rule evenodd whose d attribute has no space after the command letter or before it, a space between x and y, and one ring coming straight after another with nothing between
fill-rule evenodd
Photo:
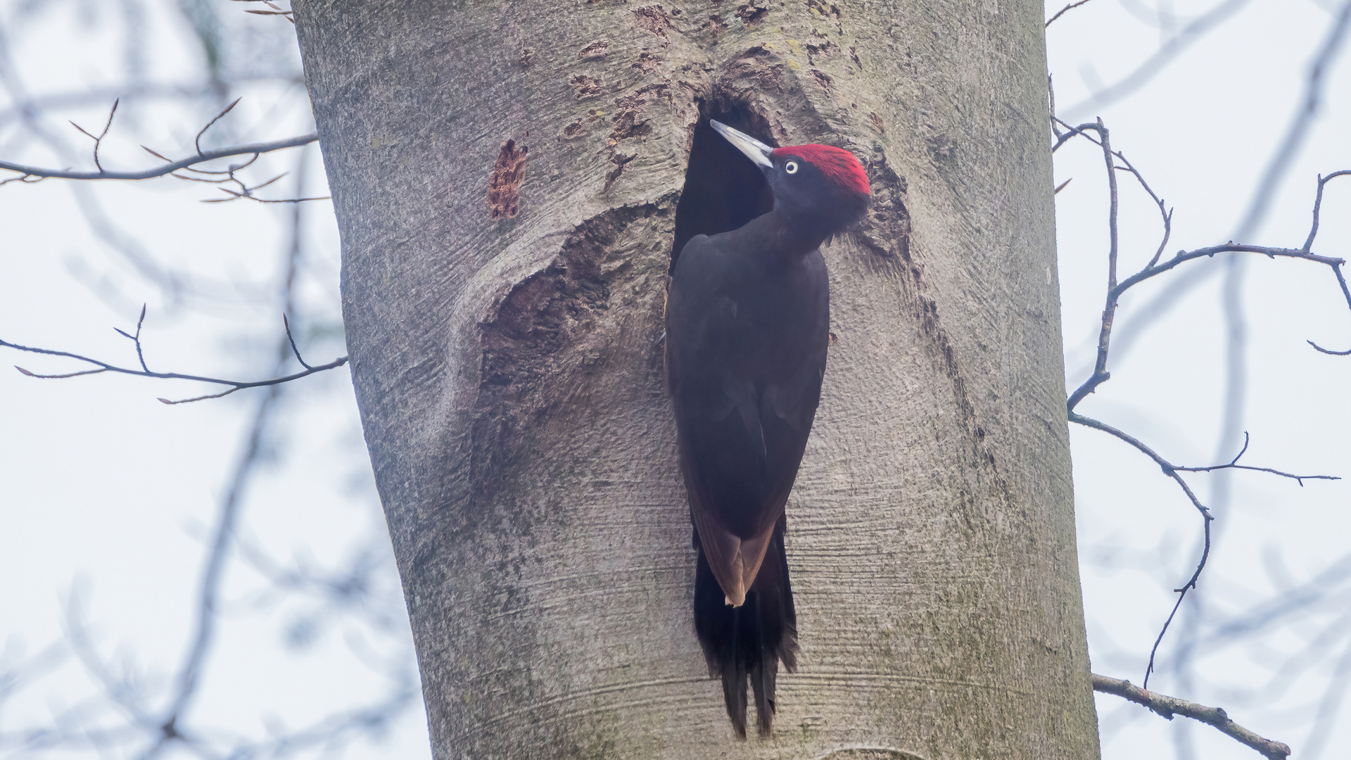
<instances>
[{"instance_id":1,"label":"dark nest hole in the trunk beside the woodpecker's bill","mask_svg":"<svg viewBox=\"0 0 1351 760\"><path fill-rule=\"evenodd\" d=\"M709 119L740 130L765 145L777 143L769 137L769 124L759 114L742 105L708 105L700 103L694 145L689 150L685 188L676 204L676 246L671 272L685 243L694 235L716 235L735 230L774 208L765 174L732 143L713 131Z\"/></svg>"}]
</instances>

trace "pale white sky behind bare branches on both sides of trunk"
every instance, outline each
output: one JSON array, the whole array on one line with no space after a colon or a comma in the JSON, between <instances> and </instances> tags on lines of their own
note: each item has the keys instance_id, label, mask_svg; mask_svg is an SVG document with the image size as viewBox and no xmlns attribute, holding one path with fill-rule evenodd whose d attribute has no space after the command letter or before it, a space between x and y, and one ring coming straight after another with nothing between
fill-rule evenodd
<instances>
[{"instance_id":1,"label":"pale white sky behind bare branches on both sides of trunk","mask_svg":"<svg viewBox=\"0 0 1351 760\"><path fill-rule=\"evenodd\" d=\"M1232 1L1232 0L1231 0ZM128 0L130 3L130 0ZM119 4L119 7L128 3ZM1220 0L1171 4L1185 26ZM42 128L80 153L53 153L14 120L12 96L0 89L0 158L43 165L88 164L86 139L66 124L97 131L116 87L126 81L128 53L120 14L99 3L50 3L55 9L15 26L28 3L0 3L8 57L32 95L111 88L86 104L53 104ZM1055 4L1050 12L1059 9ZM1258 177L1285 134L1304 89L1308 62L1332 20L1333 0L1250 0L1200 38L1133 95L1105 107L1075 108L1094 91L1132 72L1167 39L1146 0L1093 0L1048 30L1050 69L1062 116L1074 123L1101 115L1113 147L1144 173L1174 207L1165 256L1228 239L1242 224ZM231 145L303 134L312 128L286 22L247 16L238 4L213 5L228 20L240 66L267 76L238 89L240 105L209 133L207 145ZM1163 5L1167 7L1167 5ZM84 8L84 9L81 9ZM135 46L147 81L201 80L200 49L182 41L190 30L172 3L145 4L143 42ZM1161 28L1162 27L1162 28ZM130 64L135 66L135 55ZM1315 177L1351 168L1351 54L1343 53L1324 87L1324 107L1281 185L1266 223L1247 242L1297 247L1308 234ZM0 62L8 68L7 64ZM280 76L278 76L280 74ZM8 87L12 87L12 81ZM143 142L178 156L219 104L124 101L101 153L109 166L143 166ZM216 131L219 130L219 131ZM78 139L76 139L78 138ZM315 147L307 195L324 195ZM295 168L299 150L262 160L272 173ZM1056 157L1061 287L1066 371L1070 387L1092 369L1106 277L1106 191L1101 153L1084 141ZM251 174L266 179L259 169ZM259 191L295 193L295 174ZM1121 174L1123 276L1143 265L1158 245L1158 212ZM243 201L203 204L209 185L158 180L97 187L49 180L0 188L0 337L134 364L130 341L142 303L146 360L153 369L257 377L267 372L281 334L278 266L286 249L289 206ZM113 223L166 269L190 280L174 299L136 275L127 257L103 242L80 214L76 193L103 206ZM338 333L338 242L327 201L304 206L307 243L299 285L299 334L307 361L343 352ZM1324 196L1316 253L1351 253L1351 177ZM1219 258L1185 264L1221 269ZM1138 288L1123 302L1123 330L1173 275ZM1220 277L1197 287L1165 319L1139 335L1129 353L1113 353L1112 380L1079 411L1121 427L1177 464L1216 464L1223 398ZM1344 394L1351 357L1316 353L1304 341L1351 348L1351 318L1327 268L1254 257L1244 288L1248 400L1243 429L1252 434L1251 465L1300 473L1351 476ZM8 364L38 372L69 364L0 350ZM295 366L295 365L290 365ZM259 392L185 406L157 396L205 392L192 384L95 376L39 381L0 369L0 669L62 638L66 603L82 603L104 657L134 664L150 692L162 687L192 634L192 609L204 554L240 437ZM346 369L286 387L270 433L274 456L247 490L243 533L278 561L342 571L362 550L378 552L369 580L380 613L399 619L403 600L388 556L370 469L365 458ZM1094 430L1071 429L1079 517L1079 549L1096 672L1139 684L1158 627L1173 604L1171 588L1194 567L1200 519L1158 468ZM1202 500L1213 477L1193 475ZM1177 672L1177 645L1188 626L1200 636L1229 615L1279 594L1348 552L1351 518L1344 481L1293 481L1239 473L1233 498L1217 508L1216 546L1196 599L1185 604L1159 650L1151 687L1225 707L1238 722L1286 741L1296 757L1323 746L1337 757L1351 745L1351 700L1325 723L1333 733L1309 746L1328 673L1351 652L1351 625L1340 610L1243 646L1202 645L1192 676ZM1208 502L1209 503L1209 502ZM385 661L408 663L407 623L393 630L369 617L332 614L312 595L266 594L263 576L231 564L226 615L192 715L223 736L266 736L276 721L295 729L336 711L376 702L390 684ZM1346 599L1347 584L1342 584ZM1197 623L1196 621L1205 621ZM286 646L288 632L312 623L307 646ZM1283 692L1247 694L1271 678L1281 653L1298 652L1333 625L1339 636L1320 664ZM1351 660L1348 660L1351 663ZM789 676L790 678L790 676ZM1344 687L1344 679L1343 679ZM0 732L78 705L95 687L74 663L28 686L0 709ZM709 692L715 698L713 691ZM1209 726L1173 722L1098 698L1105 757L1250 759L1256 755ZM108 719L105 715L104 721ZM1186 732L1189 738L1181 738ZM426 757L420 705L382 733L359 740L347 757ZM1190 745L1188 744L1190 742ZM1188 752L1185 748L1192 746ZM1175 755L1179 752L1181 755Z\"/></svg>"}]
</instances>

